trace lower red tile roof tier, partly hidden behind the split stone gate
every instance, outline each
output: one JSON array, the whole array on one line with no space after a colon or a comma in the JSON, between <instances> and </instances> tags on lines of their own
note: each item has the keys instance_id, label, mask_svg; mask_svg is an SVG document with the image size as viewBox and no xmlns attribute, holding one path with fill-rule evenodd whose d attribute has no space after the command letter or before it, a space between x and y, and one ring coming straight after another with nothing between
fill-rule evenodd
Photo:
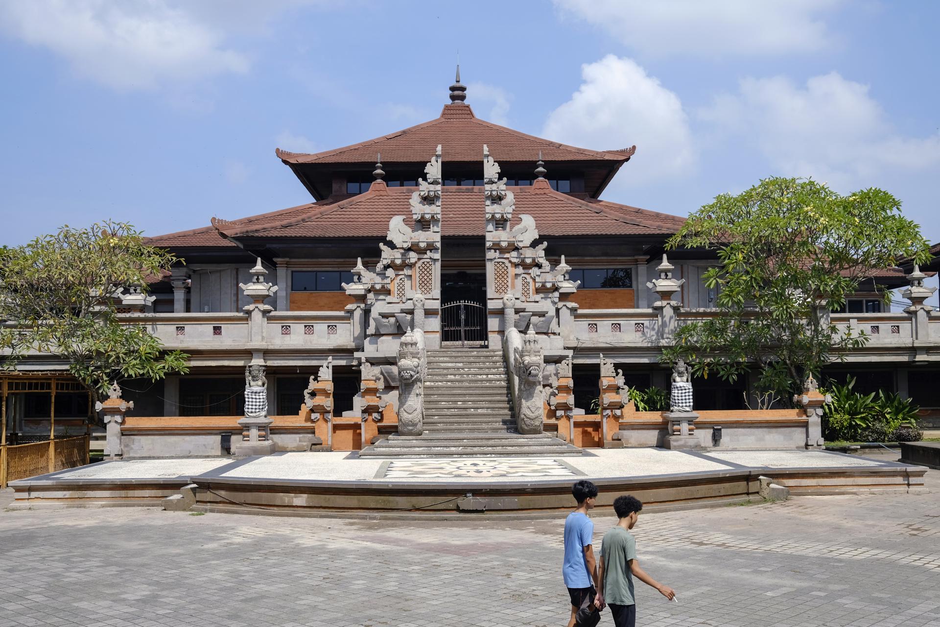
<instances>
[{"instance_id":1,"label":"lower red tile roof tier, partly hidden behind the split stone gate","mask_svg":"<svg viewBox=\"0 0 940 627\"><path fill-rule=\"evenodd\" d=\"M666 213L600 200L581 200L560 194L547 180L530 187L510 188L515 196L515 219L528 213L543 236L561 235L670 235L684 219ZM415 188L372 184L365 194L332 205L303 205L282 214L281 220L260 223L213 219L227 237L239 238L347 238L384 237L396 215L411 215L409 199ZM483 188L445 187L441 196L441 234L473 236L484 232ZM291 213L288 213L291 212Z\"/></svg>"}]
</instances>

